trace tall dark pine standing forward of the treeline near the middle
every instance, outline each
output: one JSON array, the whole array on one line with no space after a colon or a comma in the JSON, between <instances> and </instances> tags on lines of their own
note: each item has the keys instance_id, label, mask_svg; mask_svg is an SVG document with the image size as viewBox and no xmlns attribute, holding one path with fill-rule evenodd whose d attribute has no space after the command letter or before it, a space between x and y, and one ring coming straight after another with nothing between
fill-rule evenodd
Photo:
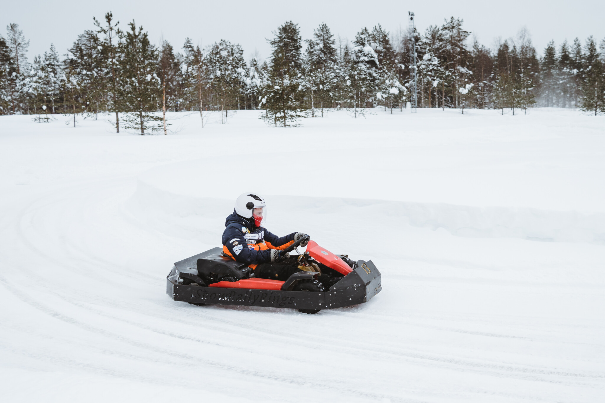
<instances>
[{"instance_id":1,"label":"tall dark pine standing forward of the treeline near the middle","mask_svg":"<svg viewBox=\"0 0 605 403\"><path fill-rule=\"evenodd\" d=\"M264 90L264 120L282 127L297 126L304 117L301 110L301 36L298 25L288 21L278 28L269 41L272 47L269 83Z\"/></svg>"}]
</instances>

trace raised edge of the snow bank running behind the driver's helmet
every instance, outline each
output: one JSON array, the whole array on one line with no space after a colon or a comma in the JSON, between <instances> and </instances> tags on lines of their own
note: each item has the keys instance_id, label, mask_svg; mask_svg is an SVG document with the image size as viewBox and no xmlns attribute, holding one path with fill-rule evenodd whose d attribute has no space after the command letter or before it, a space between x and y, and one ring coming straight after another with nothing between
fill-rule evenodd
<instances>
[{"instance_id":1,"label":"raised edge of the snow bank running behind the driver's helmet","mask_svg":"<svg viewBox=\"0 0 605 403\"><path fill-rule=\"evenodd\" d=\"M208 189L211 193L211 189ZM219 192L220 194L220 192ZM394 225L444 228L456 236L516 237L546 242L589 242L605 244L605 214L583 214L578 211L551 211L537 208L477 207L446 203L380 201L353 198L264 195L272 209L300 215L318 211L350 209L350 215L373 214L378 222ZM162 231L185 237L198 233L220 239L224 217L232 211L232 199L201 198L179 195L139 178L129 206L146 221L160 225ZM269 210L270 213L272 212ZM222 212L220 214L217 212ZM381 217L376 217L381 216ZM174 226L177 227L174 227ZM365 225L371 227L372 222ZM218 235L218 236L217 236ZM212 239L207 239L212 244Z\"/></svg>"}]
</instances>

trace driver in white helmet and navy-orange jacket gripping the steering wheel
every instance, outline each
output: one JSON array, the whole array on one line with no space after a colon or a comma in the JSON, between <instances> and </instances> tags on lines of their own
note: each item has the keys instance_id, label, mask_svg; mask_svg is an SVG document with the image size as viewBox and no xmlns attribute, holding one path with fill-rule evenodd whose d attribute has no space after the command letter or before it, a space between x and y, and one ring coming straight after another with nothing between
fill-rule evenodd
<instances>
[{"instance_id":1,"label":"driver in white helmet and navy-orange jacket gripping the steering wheel","mask_svg":"<svg viewBox=\"0 0 605 403\"><path fill-rule=\"evenodd\" d=\"M266 209L261 196L244 193L237 198L233 214L225 221L223 253L253 268L257 278L286 281L300 269L296 258L283 250L306 234L295 232L278 237L270 233L261 226ZM307 241L301 243L301 247L306 245Z\"/></svg>"}]
</instances>

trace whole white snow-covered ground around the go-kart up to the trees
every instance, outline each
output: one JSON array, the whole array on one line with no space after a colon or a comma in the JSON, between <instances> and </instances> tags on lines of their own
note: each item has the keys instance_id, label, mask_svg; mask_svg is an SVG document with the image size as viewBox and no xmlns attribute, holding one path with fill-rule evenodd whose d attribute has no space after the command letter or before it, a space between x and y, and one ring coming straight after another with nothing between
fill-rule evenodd
<instances>
[{"instance_id":1,"label":"whole white snow-covered ground around the go-kart up to the trees","mask_svg":"<svg viewBox=\"0 0 605 403\"><path fill-rule=\"evenodd\" d=\"M168 136L0 117L3 401L605 400L605 117L257 111ZM267 228L372 259L316 315L172 301L242 192Z\"/></svg>"}]
</instances>

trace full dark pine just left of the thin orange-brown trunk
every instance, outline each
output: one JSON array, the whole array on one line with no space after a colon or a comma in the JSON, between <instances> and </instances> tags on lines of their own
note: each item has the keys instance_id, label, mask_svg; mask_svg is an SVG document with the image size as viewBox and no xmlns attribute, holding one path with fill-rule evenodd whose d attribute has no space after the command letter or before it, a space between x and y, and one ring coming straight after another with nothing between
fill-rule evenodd
<instances>
[{"instance_id":1,"label":"full dark pine just left of the thin orange-brown trunk","mask_svg":"<svg viewBox=\"0 0 605 403\"><path fill-rule=\"evenodd\" d=\"M143 27L137 30L134 21L128 25L130 29L120 43L120 69L124 82L120 97L128 111L126 129L137 129L141 135L145 135L145 131L159 131L160 127L153 122L162 120L151 113L157 110L157 95L160 92L160 80L155 74L157 50L149 42Z\"/></svg>"}]
</instances>

